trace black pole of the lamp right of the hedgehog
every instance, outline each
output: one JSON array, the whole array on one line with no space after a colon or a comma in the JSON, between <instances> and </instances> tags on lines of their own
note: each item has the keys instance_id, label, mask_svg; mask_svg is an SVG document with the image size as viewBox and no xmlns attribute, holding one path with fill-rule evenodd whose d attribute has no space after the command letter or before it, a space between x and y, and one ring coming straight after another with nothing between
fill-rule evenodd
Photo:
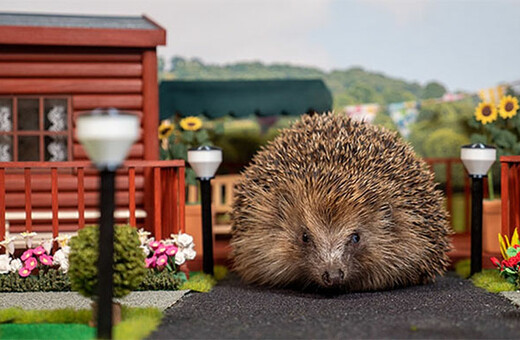
<instances>
[{"instance_id":1,"label":"black pole of the lamp right of the hedgehog","mask_svg":"<svg viewBox=\"0 0 520 340\"><path fill-rule=\"evenodd\" d=\"M471 275L482 271L483 176L471 176Z\"/></svg>"}]
</instances>

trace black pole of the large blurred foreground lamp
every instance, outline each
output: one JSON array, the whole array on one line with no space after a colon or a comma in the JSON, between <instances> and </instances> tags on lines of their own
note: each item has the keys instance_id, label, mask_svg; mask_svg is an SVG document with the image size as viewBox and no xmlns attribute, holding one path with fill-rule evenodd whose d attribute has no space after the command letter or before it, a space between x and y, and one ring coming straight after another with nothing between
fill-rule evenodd
<instances>
[{"instance_id":1,"label":"black pole of the large blurred foreground lamp","mask_svg":"<svg viewBox=\"0 0 520 340\"><path fill-rule=\"evenodd\" d=\"M98 339L112 339L115 172L103 169L100 176L97 337Z\"/></svg>"}]
</instances>

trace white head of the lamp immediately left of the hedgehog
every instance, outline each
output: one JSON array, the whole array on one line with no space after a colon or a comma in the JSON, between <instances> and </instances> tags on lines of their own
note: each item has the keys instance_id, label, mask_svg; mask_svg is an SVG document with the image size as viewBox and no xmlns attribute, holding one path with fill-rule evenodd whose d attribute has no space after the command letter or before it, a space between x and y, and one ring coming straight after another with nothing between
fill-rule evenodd
<instances>
[{"instance_id":1,"label":"white head of the lamp immediately left of the hedgehog","mask_svg":"<svg viewBox=\"0 0 520 340\"><path fill-rule=\"evenodd\" d=\"M199 146L188 150L188 163L195 171L197 178L208 180L215 177L222 163L222 149L214 146Z\"/></svg>"}]
</instances>

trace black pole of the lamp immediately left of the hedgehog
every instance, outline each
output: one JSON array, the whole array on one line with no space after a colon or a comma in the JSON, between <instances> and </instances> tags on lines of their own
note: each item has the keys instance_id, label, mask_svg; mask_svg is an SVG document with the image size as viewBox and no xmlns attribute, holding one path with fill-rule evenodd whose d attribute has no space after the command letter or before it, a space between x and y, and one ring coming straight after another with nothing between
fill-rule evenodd
<instances>
[{"instance_id":1,"label":"black pole of the lamp immediately left of the hedgehog","mask_svg":"<svg viewBox=\"0 0 520 340\"><path fill-rule=\"evenodd\" d=\"M213 227L211 221L211 178L199 178L202 201L202 270L213 275Z\"/></svg>"}]
</instances>

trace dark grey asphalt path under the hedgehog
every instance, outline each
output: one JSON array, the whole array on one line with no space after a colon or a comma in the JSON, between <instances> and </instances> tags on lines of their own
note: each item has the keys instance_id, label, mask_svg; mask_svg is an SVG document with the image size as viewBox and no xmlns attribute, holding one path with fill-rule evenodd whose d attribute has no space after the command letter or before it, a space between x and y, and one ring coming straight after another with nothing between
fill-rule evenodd
<instances>
[{"instance_id":1,"label":"dark grey asphalt path under the hedgehog","mask_svg":"<svg viewBox=\"0 0 520 340\"><path fill-rule=\"evenodd\" d=\"M520 309L448 275L383 292L323 295L244 285L236 277L190 293L152 339L520 338Z\"/></svg>"}]
</instances>

